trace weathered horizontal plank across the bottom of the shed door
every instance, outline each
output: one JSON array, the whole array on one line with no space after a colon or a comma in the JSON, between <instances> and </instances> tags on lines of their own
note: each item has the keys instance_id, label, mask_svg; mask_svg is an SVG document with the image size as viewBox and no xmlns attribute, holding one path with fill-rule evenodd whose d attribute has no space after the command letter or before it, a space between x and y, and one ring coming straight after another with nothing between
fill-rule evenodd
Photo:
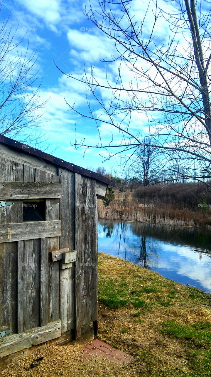
<instances>
[{"instance_id":1,"label":"weathered horizontal plank across the bottom of the shed door","mask_svg":"<svg viewBox=\"0 0 211 377\"><path fill-rule=\"evenodd\" d=\"M61 336L61 322L54 321L45 326L32 328L21 334L9 335L1 340L0 357L47 342Z\"/></svg>"}]
</instances>

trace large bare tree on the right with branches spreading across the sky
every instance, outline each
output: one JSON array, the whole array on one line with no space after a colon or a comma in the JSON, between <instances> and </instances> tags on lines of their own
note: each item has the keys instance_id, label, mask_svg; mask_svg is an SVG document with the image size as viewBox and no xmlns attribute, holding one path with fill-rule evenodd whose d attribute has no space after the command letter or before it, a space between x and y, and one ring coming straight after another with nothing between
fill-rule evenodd
<instances>
[{"instance_id":1,"label":"large bare tree on the right with branches spreading across the sky","mask_svg":"<svg viewBox=\"0 0 211 377\"><path fill-rule=\"evenodd\" d=\"M140 19L140 13L136 18L133 3L133 0L99 0L99 8L90 5L86 10L89 20L115 44L116 53L105 63L119 60L119 68L115 81L109 81L105 71L104 83L97 79L94 67L85 70L81 79L66 74L84 83L87 93L91 92L96 100L96 109L102 110L95 112L88 96L86 113L81 113L66 99L70 109L98 125L100 136L97 145L77 139L74 144L107 150L116 148L119 153L128 153L128 150L134 153L140 145L155 147L161 151L164 164L179 158L188 176L194 175L197 180L210 178L210 7L203 1L158 3L154 0L149 1ZM156 38L158 23L164 30L160 39ZM103 100L101 89L102 93L110 92L109 102ZM130 128L134 113L148 116L150 144L145 142L141 129L134 133ZM122 142L115 143L112 138L110 143L104 143L99 127L103 125L118 129Z\"/></svg>"}]
</instances>

